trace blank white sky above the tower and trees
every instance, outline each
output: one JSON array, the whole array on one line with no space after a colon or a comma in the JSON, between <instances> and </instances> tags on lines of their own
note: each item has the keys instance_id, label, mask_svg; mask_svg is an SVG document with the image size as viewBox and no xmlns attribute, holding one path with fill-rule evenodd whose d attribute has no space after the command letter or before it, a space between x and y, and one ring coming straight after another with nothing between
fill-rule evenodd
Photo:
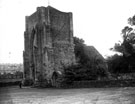
<instances>
[{"instance_id":1,"label":"blank white sky above the tower and trees","mask_svg":"<svg viewBox=\"0 0 135 104\"><path fill-rule=\"evenodd\" d=\"M134 0L49 0L49 5L73 13L74 36L103 56L121 40L121 30L135 14ZM48 0L0 0L0 63L23 63L25 16Z\"/></svg>"}]
</instances>

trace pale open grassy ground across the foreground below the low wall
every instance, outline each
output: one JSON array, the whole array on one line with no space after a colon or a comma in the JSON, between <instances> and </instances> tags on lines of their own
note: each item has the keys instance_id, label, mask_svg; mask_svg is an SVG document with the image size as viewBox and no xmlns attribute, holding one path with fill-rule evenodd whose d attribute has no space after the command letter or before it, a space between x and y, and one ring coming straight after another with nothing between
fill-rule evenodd
<instances>
[{"instance_id":1,"label":"pale open grassy ground across the foreground below the low wall","mask_svg":"<svg viewBox=\"0 0 135 104\"><path fill-rule=\"evenodd\" d=\"M135 104L135 87L81 89L3 87L0 89L0 104Z\"/></svg>"}]
</instances>

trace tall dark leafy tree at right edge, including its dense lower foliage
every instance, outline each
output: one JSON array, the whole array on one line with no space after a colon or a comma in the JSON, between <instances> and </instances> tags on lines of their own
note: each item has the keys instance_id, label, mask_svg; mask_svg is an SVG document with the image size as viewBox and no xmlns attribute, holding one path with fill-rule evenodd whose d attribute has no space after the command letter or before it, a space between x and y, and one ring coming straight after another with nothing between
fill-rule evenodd
<instances>
[{"instance_id":1,"label":"tall dark leafy tree at right edge, including its dense lower foliage","mask_svg":"<svg viewBox=\"0 0 135 104\"><path fill-rule=\"evenodd\" d=\"M135 72L135 15L128 19L128 26L121 30L122 41L115 43L111 50L122 56L114 55L109 58L109 70L113 73Z\"/></svg>"}]
</instances>

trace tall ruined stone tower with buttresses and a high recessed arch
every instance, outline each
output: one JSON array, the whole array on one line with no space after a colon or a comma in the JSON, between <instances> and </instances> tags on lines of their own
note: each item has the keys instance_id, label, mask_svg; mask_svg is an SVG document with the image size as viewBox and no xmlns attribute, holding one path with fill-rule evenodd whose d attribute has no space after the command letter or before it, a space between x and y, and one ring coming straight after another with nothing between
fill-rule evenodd
<instances>
[{"instance_id":1,"label":"tall ruined stone tower with buttresses and a high recessed arch","mask_svg":"<svg viewBox=\"0 0 135 104\"><path fill-rule=\"evenodd\" d=\"M26 16L24 47L24 78L55 82L54 73L75 63L72 13L38 7Z\"/></svg>"}]
</instances>

